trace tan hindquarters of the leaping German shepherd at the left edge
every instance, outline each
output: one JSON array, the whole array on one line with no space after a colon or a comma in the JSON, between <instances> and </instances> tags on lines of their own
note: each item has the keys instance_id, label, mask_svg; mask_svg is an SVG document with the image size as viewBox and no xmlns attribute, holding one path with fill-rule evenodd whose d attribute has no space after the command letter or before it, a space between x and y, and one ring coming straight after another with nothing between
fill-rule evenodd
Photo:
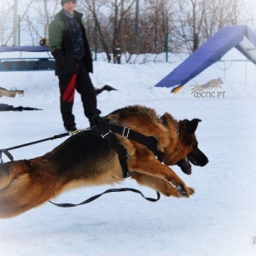
<instances>
[{"instance_id":1,"label":"tan hindquarters of the leaping German shepherd at the left edge","mask_svg":"<svg viewBox=\"0 0 256 256\"><path fill-rule=\"evenodd\" d=\"M61 192L62 182L52 176L49 165L42 166L30 160L1 166L0 218L15 217Z\"/></svg>"}]
</instances>

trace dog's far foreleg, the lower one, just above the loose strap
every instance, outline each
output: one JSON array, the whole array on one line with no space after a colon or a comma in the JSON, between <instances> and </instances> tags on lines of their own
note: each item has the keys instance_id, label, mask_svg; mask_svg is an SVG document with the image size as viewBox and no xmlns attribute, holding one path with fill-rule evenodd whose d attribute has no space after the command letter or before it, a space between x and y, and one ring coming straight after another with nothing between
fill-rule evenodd
<instances>
[{"instance_id":1,"label":"dog's far foreleg, the lower one, just above the loose strap","mask_svg":"<svg viewBox=\"0 0 256 256\"><path fill-rule=\"evenodd\" d=\"M163 178L153 177L139 172L132 172L131 178L135 179L137 183L152 188L163 195L183 197L183 193L181 193L181 191L176 187L173 187L171 183L168 183ZM194 189L191 189L191 194L192 193L194 193Z\"/></svg>"}]
</instances>

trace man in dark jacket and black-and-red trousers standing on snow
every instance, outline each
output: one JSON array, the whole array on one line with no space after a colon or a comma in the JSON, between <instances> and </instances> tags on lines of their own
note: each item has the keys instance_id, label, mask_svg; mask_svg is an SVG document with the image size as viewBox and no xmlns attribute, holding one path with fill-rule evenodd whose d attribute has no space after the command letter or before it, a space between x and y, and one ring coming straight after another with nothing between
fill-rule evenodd
<instances>
[{"instance_id":1,"label":"man in dark jacket and black-and-red trousers standing on snow","mask_svg":"<svg viewBox=\"0 0 256 256\"><path fill-rule=\"evenodd\" d=\"M96 108L96 92L91 83L92 56L82 24L82 14L75 10L76 0L61 0L61 11L49 25L49 49L55 57L55 75L61 90L61 115L67 131L77 130L72 113L75 90L81 95L84 115L101 113Z\"/></svg>"}]
</instances>

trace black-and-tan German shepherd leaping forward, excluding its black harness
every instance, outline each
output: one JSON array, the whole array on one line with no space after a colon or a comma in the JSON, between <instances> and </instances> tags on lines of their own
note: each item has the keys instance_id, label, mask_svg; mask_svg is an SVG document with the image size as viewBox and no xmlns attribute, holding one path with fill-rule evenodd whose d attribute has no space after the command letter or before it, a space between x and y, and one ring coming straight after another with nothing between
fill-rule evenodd
<instances>
[{"instance_id":1,"label":"black-and-tan German shepherd leaping forward, excluding its black harness","mask_svg":"<svg viewBox=\"0 0 256 256\"><path fill-rule=\"evenodd\" d=\"M177 121L170 113L159 117L154 109L139 105L120 108L102 119L109 125L126 127L156 139L162 162L141 143L114 133L126 150L130 177L137 183L166 196L194 194L194 189L187 187L169 166L177 164L189 174L189 162L207 165L207 156L197 147L195 139L200 119ZM68 189L119 183L123 179L119 156L113 147L103 137L82 131L43 156L0 166L0 218L15 217Z\"/></svg>"}]
</instances>

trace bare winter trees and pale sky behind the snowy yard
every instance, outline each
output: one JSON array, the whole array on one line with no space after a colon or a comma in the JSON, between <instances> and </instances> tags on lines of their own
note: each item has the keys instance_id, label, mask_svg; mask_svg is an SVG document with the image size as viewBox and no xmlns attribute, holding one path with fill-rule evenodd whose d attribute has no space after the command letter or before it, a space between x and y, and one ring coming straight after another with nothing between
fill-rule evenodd
<instances>
[{"instance_id":1,"label":"bare winter trees and pale sky behind the snowy yard","mask_svg":"<svg viewBox=\"0 0 256 256\"><path fill-rule=\"evenodd\" d=\"M1 44L10 44L13 36L12 8L0 14ZM19 32L38 45L40 38L48 38L49 23L60 9L60 0L26 3ZM116 63L120 55L128 62L139 54L192 53L221 27L245 20L253 25L243 0L79 0L77 10L84 14L92 50Z\"/></svg>"}]
</instances>

